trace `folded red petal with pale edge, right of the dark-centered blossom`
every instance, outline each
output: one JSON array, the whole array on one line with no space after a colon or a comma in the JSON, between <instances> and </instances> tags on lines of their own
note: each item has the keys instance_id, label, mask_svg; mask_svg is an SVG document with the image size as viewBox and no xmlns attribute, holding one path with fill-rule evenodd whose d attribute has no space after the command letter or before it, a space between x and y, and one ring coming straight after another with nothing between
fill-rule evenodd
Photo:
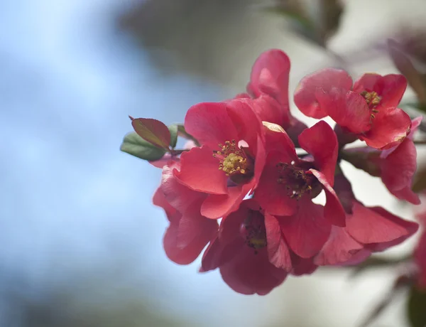
<instances>
[{"instance_id":1,"label":"folded red petal with pale edge, right of the dark-centered blossom","mask_svg":"<svg viewBox=\"0 0 426 327\"><path fill-rule=\"evenodd\" d=\"M334 189L327 181L327 178L320 171L315 169L310 169L311 173L317 178L318 181L322 184L322 189L325 192L326 203L324 205L324 216L329 221L330 224L344 227L345 226L345 216L342 203L334 192Z\"/></svg>"}]
</instances>

